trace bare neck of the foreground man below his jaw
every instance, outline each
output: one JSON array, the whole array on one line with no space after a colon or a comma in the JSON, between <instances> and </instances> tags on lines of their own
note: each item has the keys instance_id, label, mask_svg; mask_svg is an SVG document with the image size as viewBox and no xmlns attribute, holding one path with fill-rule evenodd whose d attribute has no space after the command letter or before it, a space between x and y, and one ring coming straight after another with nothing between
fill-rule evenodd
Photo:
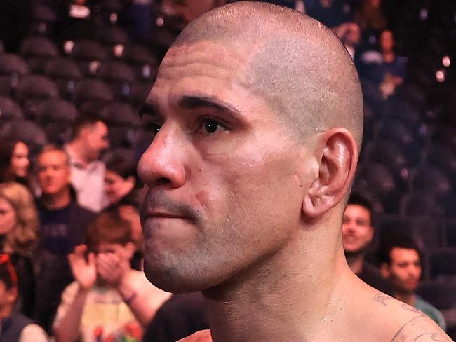
<instances>
[{"instance_id":1,"label":"bare neck of the foreground man below his jaw","mask_svg":"<svg viewBox=\"0 0 456 342\"><path fill-rule=\"evenodd\" d=\"M342 246L309 249L290 247L204 291L213 341L334 341L356 277Z\"/></svg>"}]
</instances>

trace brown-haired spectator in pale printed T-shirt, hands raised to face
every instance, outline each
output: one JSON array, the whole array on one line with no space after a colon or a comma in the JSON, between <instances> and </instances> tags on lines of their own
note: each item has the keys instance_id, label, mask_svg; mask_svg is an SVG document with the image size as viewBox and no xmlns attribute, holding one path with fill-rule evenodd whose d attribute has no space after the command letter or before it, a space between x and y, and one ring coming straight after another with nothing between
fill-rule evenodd
<instances>
[{"instance_id":1,"label":"brown-haired spectator in pale printed T-shirt, hands raised to face","mask_svg":"<svg viewBox=\"0 0 456 342\"><path fill-rule=\"evenodd\" d=\"M69 256L75 281L63 292L55 317L58 342L140 341L170 294L130 268L134 250L128 222L113 211L99 214L86 245Z\"/></svg>"}]
</instances>

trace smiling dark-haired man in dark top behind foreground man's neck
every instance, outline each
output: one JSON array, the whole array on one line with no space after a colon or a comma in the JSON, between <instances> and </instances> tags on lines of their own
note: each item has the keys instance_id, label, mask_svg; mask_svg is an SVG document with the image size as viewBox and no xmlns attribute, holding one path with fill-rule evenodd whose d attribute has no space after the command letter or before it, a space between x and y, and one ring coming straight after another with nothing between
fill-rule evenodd
<instances>
[{"instance_id":1,"label":"smiling dark-haired man in dark top behind foreground man's neck","mask_svg":"<svg viewBox=\"0 0 456 342\"><path fill-rule=\"evenodd\" d=\"M347 263L363 282L392 294L391 285L380 271L365 261L366 252L374 238L372 205L365 198L352 193L342 220L342 241Z\"/></svg>"}]
</instances>

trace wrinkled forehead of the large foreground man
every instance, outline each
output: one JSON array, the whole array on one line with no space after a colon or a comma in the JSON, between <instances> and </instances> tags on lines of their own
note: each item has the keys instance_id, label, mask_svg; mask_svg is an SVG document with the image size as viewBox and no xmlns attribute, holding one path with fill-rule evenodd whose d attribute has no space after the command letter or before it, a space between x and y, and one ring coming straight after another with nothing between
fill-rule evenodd
<instances>
[{"instance_id":1,"label":"wrinkled forehead of the large foreground man","mask_svg":"<svg viewBox=\"0 0 456 342\"><path fill-rule=\"evenodd\" d=\"M248 78L245 48L220 41L182 43L167 53L147 103L168 107L195 97L229 106L234 97L249 93Z\"/></svg>"}]
</instances>

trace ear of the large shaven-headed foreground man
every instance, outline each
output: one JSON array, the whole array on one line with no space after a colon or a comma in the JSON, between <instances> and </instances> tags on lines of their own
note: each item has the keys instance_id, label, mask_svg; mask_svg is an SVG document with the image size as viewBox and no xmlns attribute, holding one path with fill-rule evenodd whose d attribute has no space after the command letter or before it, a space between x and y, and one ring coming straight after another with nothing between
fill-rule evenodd
<instances>
[{"instance_id":1,"label":"ear of the large shaven-headed foreground man","mask_svg":"<svg viewBox=\"0 0 456 342\"><path fill-rule=\"evenodd\" d=\"M318 177L302 203L302 210L309 219L320 217L344 198L358 163L356 142L345 128L324 132L318 139L317 149Z\"/></svg>"}]
</instances>

